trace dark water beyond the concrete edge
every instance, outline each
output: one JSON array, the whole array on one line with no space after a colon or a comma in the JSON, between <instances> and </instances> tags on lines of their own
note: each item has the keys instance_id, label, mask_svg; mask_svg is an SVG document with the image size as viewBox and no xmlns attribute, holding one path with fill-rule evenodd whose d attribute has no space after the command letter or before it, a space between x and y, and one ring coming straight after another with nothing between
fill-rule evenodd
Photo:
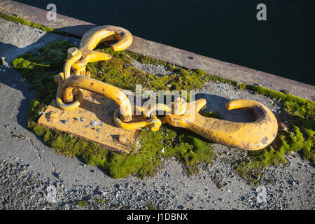
<instances>
[{"instance_id":1,"label":"dark water beyond the concrete edge","mask_svg":"<svg viewBox=\"0 0 315 224\"><path fill-rule=\"evenodd\" d=\"M315 1L18 0L200 55L315 85ZM258 3L267 21L258 21Z\"/></svg>"}]
</instances>

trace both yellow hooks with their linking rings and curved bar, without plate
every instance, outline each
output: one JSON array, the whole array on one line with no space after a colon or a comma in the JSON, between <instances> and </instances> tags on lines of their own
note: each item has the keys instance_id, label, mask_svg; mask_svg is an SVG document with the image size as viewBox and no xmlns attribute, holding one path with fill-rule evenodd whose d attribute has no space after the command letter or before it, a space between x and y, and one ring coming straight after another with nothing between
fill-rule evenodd
<instances>
[{"instance_id":1,"label":"both yellow hooks with their linking rings and curved bar, without plate","mask_svg":"<svg viewBox=\"0 0 315 224\"><path fill-rule=\"evenodd\" d=\"M115 51L125 50L132 43L132 34L121 27L95 27L83 35L78 49L69 48L64 71L55 76L55 82L58 83L56 102L59 108L73 110L80 106L84 89L102 94L116 102L119 108L113 114L113 120L118 127L125 130L148 126L152 131L157 131L160 125L169 123L174 127L191 130L211 141L246 150L265 148L276 137L278 124L274 114L263 104L250 99L232 100L226 104L226 108L251 109L257 118L253 123L238 123L201 116L199 111L206 106L205 99L186 103L178 97L171 107L165 104L152 106L148 104L145 107L132 108L130 100L122 90L90 78L90 73L86 71L89 62L111 59L111 55L93 50L99 43L106 41L113 41L111 47ZM141 111L143 120L133 122L132 113L135 110ZM154 111L167 113L165 117L157 118Z\"/></svg>"}]
</instances>

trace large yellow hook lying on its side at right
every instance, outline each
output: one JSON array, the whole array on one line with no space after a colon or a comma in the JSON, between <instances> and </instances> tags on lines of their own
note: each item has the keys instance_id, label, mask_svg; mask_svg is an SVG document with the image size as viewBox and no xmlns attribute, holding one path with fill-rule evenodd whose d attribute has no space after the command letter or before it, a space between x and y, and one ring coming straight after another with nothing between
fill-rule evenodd
<instances>
[{"instance_id":1,"label":"large yellow hook lying on its side at right","mask_svg":"<svg viewBox=\"0 0 315 224\"><path fill-rule=\"evenodd\" d=\"M253 123L238 123L201 116L198 111L206 104L205 99L190 102L187 104L186 113L182 116L166 115L167 123L186 128L225 146L251 151L265 148L274 141L278 123L272 111L263 104L251 99L235 99L225 105L228 110L252 109L257 117Z\"/></svg>"}]
</instances>

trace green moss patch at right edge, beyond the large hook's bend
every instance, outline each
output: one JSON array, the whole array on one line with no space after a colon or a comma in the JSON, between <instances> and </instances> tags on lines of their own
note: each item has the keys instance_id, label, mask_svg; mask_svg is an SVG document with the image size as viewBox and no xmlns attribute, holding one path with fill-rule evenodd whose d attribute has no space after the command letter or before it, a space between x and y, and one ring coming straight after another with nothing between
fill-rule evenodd
<instances>
[{"instance_id":1,"label":"green moss patch at right edge, beyond the large hook's bend","mask_svg":"<svg viewBox=\"0 0 315 224\"><path fill-rule=\"evenodd\" d=\"M315 103L307 99L268 90L265 87L246 85L247 90L262 94L279 101L282 122L288 123L286 130L280 128L272 147L258 152L250 152L246 160L235 162L235 170L250 184L262 181L261 173L269 165L279 166L286 163L284 156L291 152L299 152L304 160L315 164L314 148L314 107Z\"/></svg>"}]
</instances>

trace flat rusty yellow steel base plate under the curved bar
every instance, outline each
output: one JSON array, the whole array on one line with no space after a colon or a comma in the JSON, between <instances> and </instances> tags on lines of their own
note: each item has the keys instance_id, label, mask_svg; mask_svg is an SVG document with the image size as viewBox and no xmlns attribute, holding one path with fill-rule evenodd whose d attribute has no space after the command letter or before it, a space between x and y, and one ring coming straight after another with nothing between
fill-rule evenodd
<instances>
[{"instance_id":1,"label":"flat rusty yellow steel base plate under the curved bar","mask_svg":"<svg viewBox=\"0 0 315 224\"><path fill-rule=\"evenodd\" d=\"M94 141L113 151L129 153L139 130L117 127L113 122L116 104L102 95L82 91L83 100L76 109L62 111L53 100L38 123L50 129L70 132L75 137ZM50 119L51 115L53 119Z\"/></svg>"}]
</instances>

